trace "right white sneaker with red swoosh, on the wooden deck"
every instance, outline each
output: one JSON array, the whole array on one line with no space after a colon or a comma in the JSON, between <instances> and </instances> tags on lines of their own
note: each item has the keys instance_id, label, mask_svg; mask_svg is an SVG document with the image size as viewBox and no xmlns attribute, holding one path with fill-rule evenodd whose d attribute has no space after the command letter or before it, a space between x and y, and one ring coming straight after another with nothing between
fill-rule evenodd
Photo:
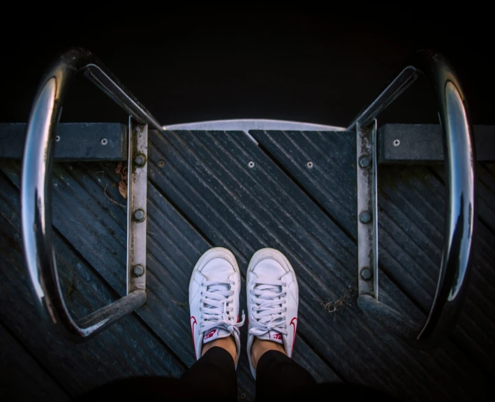
<instances>
[{"instance_id":1,"label":"right white sneaker with red swoosh, on the wooden deck","mask_svg":"<svg viewBox=\"0 0 495 402\"><path fill-rule=\"evenodd\" d=\"M251 347L255 336L281 343L292 357L297 329L299 288L295 272L286 256L274 248L257 251L246 274L248 306L247 353L251 373Z\"/></svg>"}]
</instances>

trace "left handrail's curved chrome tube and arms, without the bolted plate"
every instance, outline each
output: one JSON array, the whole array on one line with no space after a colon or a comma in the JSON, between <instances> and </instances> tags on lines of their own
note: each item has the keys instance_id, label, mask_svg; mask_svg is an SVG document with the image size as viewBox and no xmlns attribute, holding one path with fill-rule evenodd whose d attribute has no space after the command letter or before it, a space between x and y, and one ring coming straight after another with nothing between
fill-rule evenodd
<instances>
[{"instance_id":1,"label":"left handrail's curved chrome tube and arms, without the bolted plate","mask_svg":"<svg viewBox=\"0 0 495 402\"><path fill-rule=\"evenodd\" d=\"M72 49L61 54L40 82L29 115L22 158L21 216L24 256L40 314L46 320L66 329L76 339L96 334L146 302L144 288L135 290L87 317L75 320L61 296L52 241L52 145L68 87L76 75L82 72L131 114L138 124L151 124L162 130L145 107L86 50Z\"/></svg>"}]
</instances>

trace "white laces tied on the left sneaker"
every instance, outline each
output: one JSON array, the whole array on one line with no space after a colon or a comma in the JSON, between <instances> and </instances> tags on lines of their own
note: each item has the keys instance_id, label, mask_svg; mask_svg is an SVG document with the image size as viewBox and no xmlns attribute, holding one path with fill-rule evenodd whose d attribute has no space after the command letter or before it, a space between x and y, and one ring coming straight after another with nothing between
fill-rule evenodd
<instances>
[{"instance_id":1,"label":"white laces tied on the left sneaker","mask_svg":"<svg viewBox=\"0 0 495 402\"><path fill-rule=\"evenodd\" d=\"M232 281L205 281L202 283L206 290L201 292L200 307L202 320L200 322L200 332L207 332L212 328L223 328L232 334L234 331L239 333L239 328L244 325L244 311L242 312L242 321L235 322L234 305L232 296L234 291ZM235 323L232 323L235 322Z\"/></svg>"}]
</instances>

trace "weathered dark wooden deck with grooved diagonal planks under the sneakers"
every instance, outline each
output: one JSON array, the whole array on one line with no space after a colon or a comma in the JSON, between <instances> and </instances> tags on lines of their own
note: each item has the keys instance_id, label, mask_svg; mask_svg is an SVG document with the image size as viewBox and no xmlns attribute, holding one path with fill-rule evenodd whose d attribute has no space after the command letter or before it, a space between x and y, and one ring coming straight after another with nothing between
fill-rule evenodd
<instances>
[{"instance_id":1,"label":"weathered dark wooden deck with grooved diagonal planks under the sneakers","mask_svg":"<svg viewBox=\"0 0 495 402\"><path fill-rule=\"evenodd\" d=\"M287 255L300 283L294 358L318 382L362 383L404 400L489 399L495 373L494 165L478 165L477 248L464 312L449 341L425 352L387 333L355 304L355 135L251 135L259 144L240 131L149 132L148 301L82 344L52 332L34 311L22 257L20 165L0 161L0 384L6 399L65 401L117 378L181 375L194 362L189 278L212 246L229 248L243 272L259 248ZM57 261L76 316L126 291L126 210L112 202L125 203L115 166L54 168ZM424 319L441 259L443 170L380 166L378 186L381 299ZM244 350L237 371L239 397L253 399Z\"/></svg>"}]
</instances>

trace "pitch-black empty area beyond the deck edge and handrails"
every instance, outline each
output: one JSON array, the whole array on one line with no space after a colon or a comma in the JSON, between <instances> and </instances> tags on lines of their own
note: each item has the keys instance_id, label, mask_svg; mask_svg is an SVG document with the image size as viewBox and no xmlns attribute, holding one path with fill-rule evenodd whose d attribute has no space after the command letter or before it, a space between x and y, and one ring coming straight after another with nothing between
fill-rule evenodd
<instances>
[{"instance_id":1,"label":"pitch-black empty area beyond the deck edge and handrails","mask_svg":"<svg viewBox=\"0 0 495 402\"><path fill-rule=\"evenodd\" d=\"M158 16L159 18L159 16ZM27 121L43 70L71 46L91 50L161 124L209 119L288 119L346 126L415 50L443 52L464 85L474 124L495 124L490 27L468 32L437 20L334 24L316 15L170 15L131 24L98 18L2 28L0 121ZM8 95L8 96L6 96ZM62 121L126 121L84 77ZM381 116L436 123L422 80Z\"/></svg>"}]
</instances>

